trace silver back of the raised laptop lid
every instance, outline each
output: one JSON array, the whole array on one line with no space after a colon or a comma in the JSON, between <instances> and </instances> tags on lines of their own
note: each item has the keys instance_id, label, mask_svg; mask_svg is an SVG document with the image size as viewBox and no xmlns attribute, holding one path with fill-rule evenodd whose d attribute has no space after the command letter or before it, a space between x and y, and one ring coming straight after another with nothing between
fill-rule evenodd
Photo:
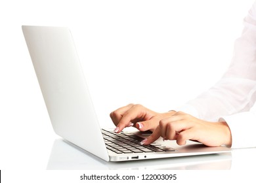
<instances>
[{"instance_id":1,"label":"silver back of the raised laptop lid","mask_svg":"<svg viewBox=\"0 0 256 183\"><path fill-rule=\"evenodd\" d=\"M55 133L109 161L70 30L22 30Z\"/></svg>"}]
</instances>

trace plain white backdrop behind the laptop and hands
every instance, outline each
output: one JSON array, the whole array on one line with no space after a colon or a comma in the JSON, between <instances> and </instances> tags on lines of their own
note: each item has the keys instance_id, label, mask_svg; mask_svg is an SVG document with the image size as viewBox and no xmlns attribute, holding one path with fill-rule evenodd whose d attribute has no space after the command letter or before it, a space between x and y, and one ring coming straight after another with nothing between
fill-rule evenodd
<instances>
[{"instance_id":1,"label":"plain white backdrop behind the laptop and hands","mask_svg":"<svg viewBox=\"0 0 256 183\"><path fill-rule=\"evenodd\" d=\"M70 27L100 124L112 126L108 115L118 107L165 112L215 84L252 3L0 1L2 174L44 171L56 139L21 25Z\"/></svg>"}]
</instances>

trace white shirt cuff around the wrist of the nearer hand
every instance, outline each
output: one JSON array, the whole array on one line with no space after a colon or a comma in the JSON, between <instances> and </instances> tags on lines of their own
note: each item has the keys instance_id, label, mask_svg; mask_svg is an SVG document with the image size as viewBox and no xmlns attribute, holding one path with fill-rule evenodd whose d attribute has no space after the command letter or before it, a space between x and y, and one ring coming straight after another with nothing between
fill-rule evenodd
<instances>
[{"instance_id":1,"label":"white shirt cuff around the wrist of the nearer hand","mask_svg":"<svg viewBox=\"0 0 256 183\"><path fill-rule=\"evenodd\" d=\"M256 116L253 112L241 112L219 119L226 122L232 135L231 148L250 148L256 146Z\"/></svg>"}]
</instances>

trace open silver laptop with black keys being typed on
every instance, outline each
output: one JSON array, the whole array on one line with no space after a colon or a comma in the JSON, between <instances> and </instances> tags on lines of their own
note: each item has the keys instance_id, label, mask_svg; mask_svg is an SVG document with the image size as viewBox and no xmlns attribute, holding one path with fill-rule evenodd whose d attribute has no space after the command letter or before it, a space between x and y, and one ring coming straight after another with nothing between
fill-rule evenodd
<instances>
[{"instance_id":1,"label":"open silver laptop with black keys being typed on","mask_svg":"<svg viewBox=\"0 0 256 183\"><path fill-rule=\"evenodd\" d=\"M117 136L112 131L101 130L70 30L65 27L25 25L22 30L53 129L67 141L106 161L230 151L229 148L210 148L194 142L186 146L178 146L172 141L168 142L168 146L156 143L140 146L141 139L134 133Z\"/></svg>"}]
</instances>

